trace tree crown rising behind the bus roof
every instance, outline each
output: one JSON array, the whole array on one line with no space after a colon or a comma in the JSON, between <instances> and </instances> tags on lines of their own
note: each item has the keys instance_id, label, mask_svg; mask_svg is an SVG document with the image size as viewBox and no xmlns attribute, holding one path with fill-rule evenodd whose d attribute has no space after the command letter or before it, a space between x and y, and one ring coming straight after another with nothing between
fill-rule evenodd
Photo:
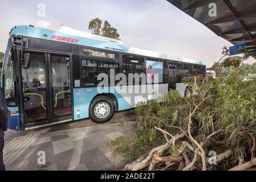
<instances>
[{"instance_id":1,"label":"tree crown rising behind the bus roof","mask_svg":"<svg viewBox=\"0 0 256 182\"><path fill-rule=\"evenodd\" d=\"M92 34L120 40L120 35L116 28L111 27L111 24L107 20L104 20L103 27L102 23L103 20L99 18L92 19L89 23L88 29L91 30Z\"/></svg>"}]
</instances>

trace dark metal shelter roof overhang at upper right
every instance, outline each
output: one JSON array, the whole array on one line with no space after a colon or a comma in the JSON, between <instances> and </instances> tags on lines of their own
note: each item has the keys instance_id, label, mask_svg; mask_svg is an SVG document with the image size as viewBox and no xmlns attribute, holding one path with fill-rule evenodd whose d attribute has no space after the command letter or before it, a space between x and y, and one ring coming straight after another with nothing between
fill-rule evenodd
<instances>
[{"instance_id":1,"label":"dark metal shelter roof overhang at upper right","mask_svg":"<svg viewBox=\"0 0 256 182\"><path fill-rule=\"evenodd\" d=\"M218 36L237 45L245 43L256 59L256 0L167 0ZM215 3L217 16L209 16Z\"/></svg>"}]
</instances>

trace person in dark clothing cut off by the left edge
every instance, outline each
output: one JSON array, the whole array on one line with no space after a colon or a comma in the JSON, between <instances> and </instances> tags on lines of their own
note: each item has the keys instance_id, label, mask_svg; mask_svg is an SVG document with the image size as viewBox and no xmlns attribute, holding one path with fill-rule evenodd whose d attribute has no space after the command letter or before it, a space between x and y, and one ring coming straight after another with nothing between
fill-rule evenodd
<instances>
[{"instance_id":1,"label":"person in dark clothing cut off by the left edge","mask_svg":"<svg viewBox=\"0 0 256 182\"><path fill-rule=\"evenodd\" d=\"M5 131L8 128L8 119L10 111L5 104L5 96L0 86L0 171L5 171L5 164L3 164L3 146L5 144Z\"/></svg>"}]
</instances>

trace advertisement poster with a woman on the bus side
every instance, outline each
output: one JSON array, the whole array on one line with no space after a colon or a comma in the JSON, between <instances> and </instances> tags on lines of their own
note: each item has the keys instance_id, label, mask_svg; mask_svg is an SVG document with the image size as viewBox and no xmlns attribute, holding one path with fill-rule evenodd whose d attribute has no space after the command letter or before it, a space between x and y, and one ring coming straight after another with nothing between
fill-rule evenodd
<instances>
[{"instance_id":1,"label":"advertisement poster with a woman on the bus side","mask_svg":"<svg viewBox=\"0 0 256 182\"><path fill-rule=\"evenodd\" d=\"M147 82L162 82L162 61L147 60Z\"/></svg>"}]
</instances>

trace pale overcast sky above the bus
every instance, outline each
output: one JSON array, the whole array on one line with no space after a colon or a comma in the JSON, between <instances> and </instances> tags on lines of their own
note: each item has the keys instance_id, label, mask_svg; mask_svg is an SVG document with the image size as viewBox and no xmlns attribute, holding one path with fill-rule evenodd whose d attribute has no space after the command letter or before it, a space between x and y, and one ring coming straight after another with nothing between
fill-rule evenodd
<instances>
[{"instance_id":1,"label":"pale overcast sky above the bus","mask_svg":"<svg viewBox=\"0 0 256 182\"><path fill-rule=\"evenodd\" d=\"M46 17L37 15L41 2ZM127 46L201 60L208 67L220 59L223 46L232 46L165 0L1 0L0 51L15 25L42 20L90 32L88 23L94 18L108 20Z\"/></svg>"}]
</instances>

